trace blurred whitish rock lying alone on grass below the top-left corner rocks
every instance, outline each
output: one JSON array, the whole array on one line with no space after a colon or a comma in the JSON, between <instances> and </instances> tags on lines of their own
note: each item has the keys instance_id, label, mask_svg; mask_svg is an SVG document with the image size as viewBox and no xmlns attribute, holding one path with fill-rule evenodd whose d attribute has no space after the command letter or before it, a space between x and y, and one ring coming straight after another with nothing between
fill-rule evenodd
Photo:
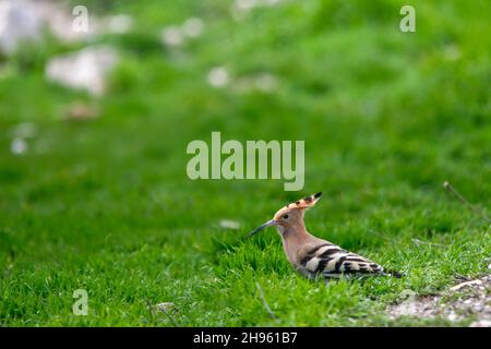
<instances>
[{"instance_id":1,"label":"blurred whitish rock lying alone on grass below the top-left corner rocks","mask_svg":"<svg viewBox=\"0 0 491 349\"><path fill-rule=\"evenodd\" d=\"M100 96L106 91L107 74L117 62L118 55L112 48L86 47L52 58L47 63L46 77L67 87L86 89Z\"/></svg>"}]
</instances>

